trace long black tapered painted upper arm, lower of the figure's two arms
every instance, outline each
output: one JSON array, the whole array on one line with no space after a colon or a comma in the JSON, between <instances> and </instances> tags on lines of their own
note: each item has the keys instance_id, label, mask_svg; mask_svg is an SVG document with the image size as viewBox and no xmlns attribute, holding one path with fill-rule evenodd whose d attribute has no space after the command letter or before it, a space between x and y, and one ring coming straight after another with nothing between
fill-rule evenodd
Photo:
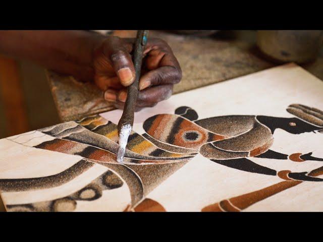
<instances>
[{"instance_id":1,"label":"long black tapered painted upper arm, lower of the figure's two arms","mask_svg":"<svg viewBox=\"0 0 323 242\"><path fill-rule=\"evenodd\" d=\"M235 168L238 170L248 171L252 173L259 173L265 175L276 175L277 171L270 169L268 167L258 165L247 158L238 158L238 159L230 159L230 160L214 160L211 159L218 164L225 165L231 168Z\"/></svg>"}]
</instances>

